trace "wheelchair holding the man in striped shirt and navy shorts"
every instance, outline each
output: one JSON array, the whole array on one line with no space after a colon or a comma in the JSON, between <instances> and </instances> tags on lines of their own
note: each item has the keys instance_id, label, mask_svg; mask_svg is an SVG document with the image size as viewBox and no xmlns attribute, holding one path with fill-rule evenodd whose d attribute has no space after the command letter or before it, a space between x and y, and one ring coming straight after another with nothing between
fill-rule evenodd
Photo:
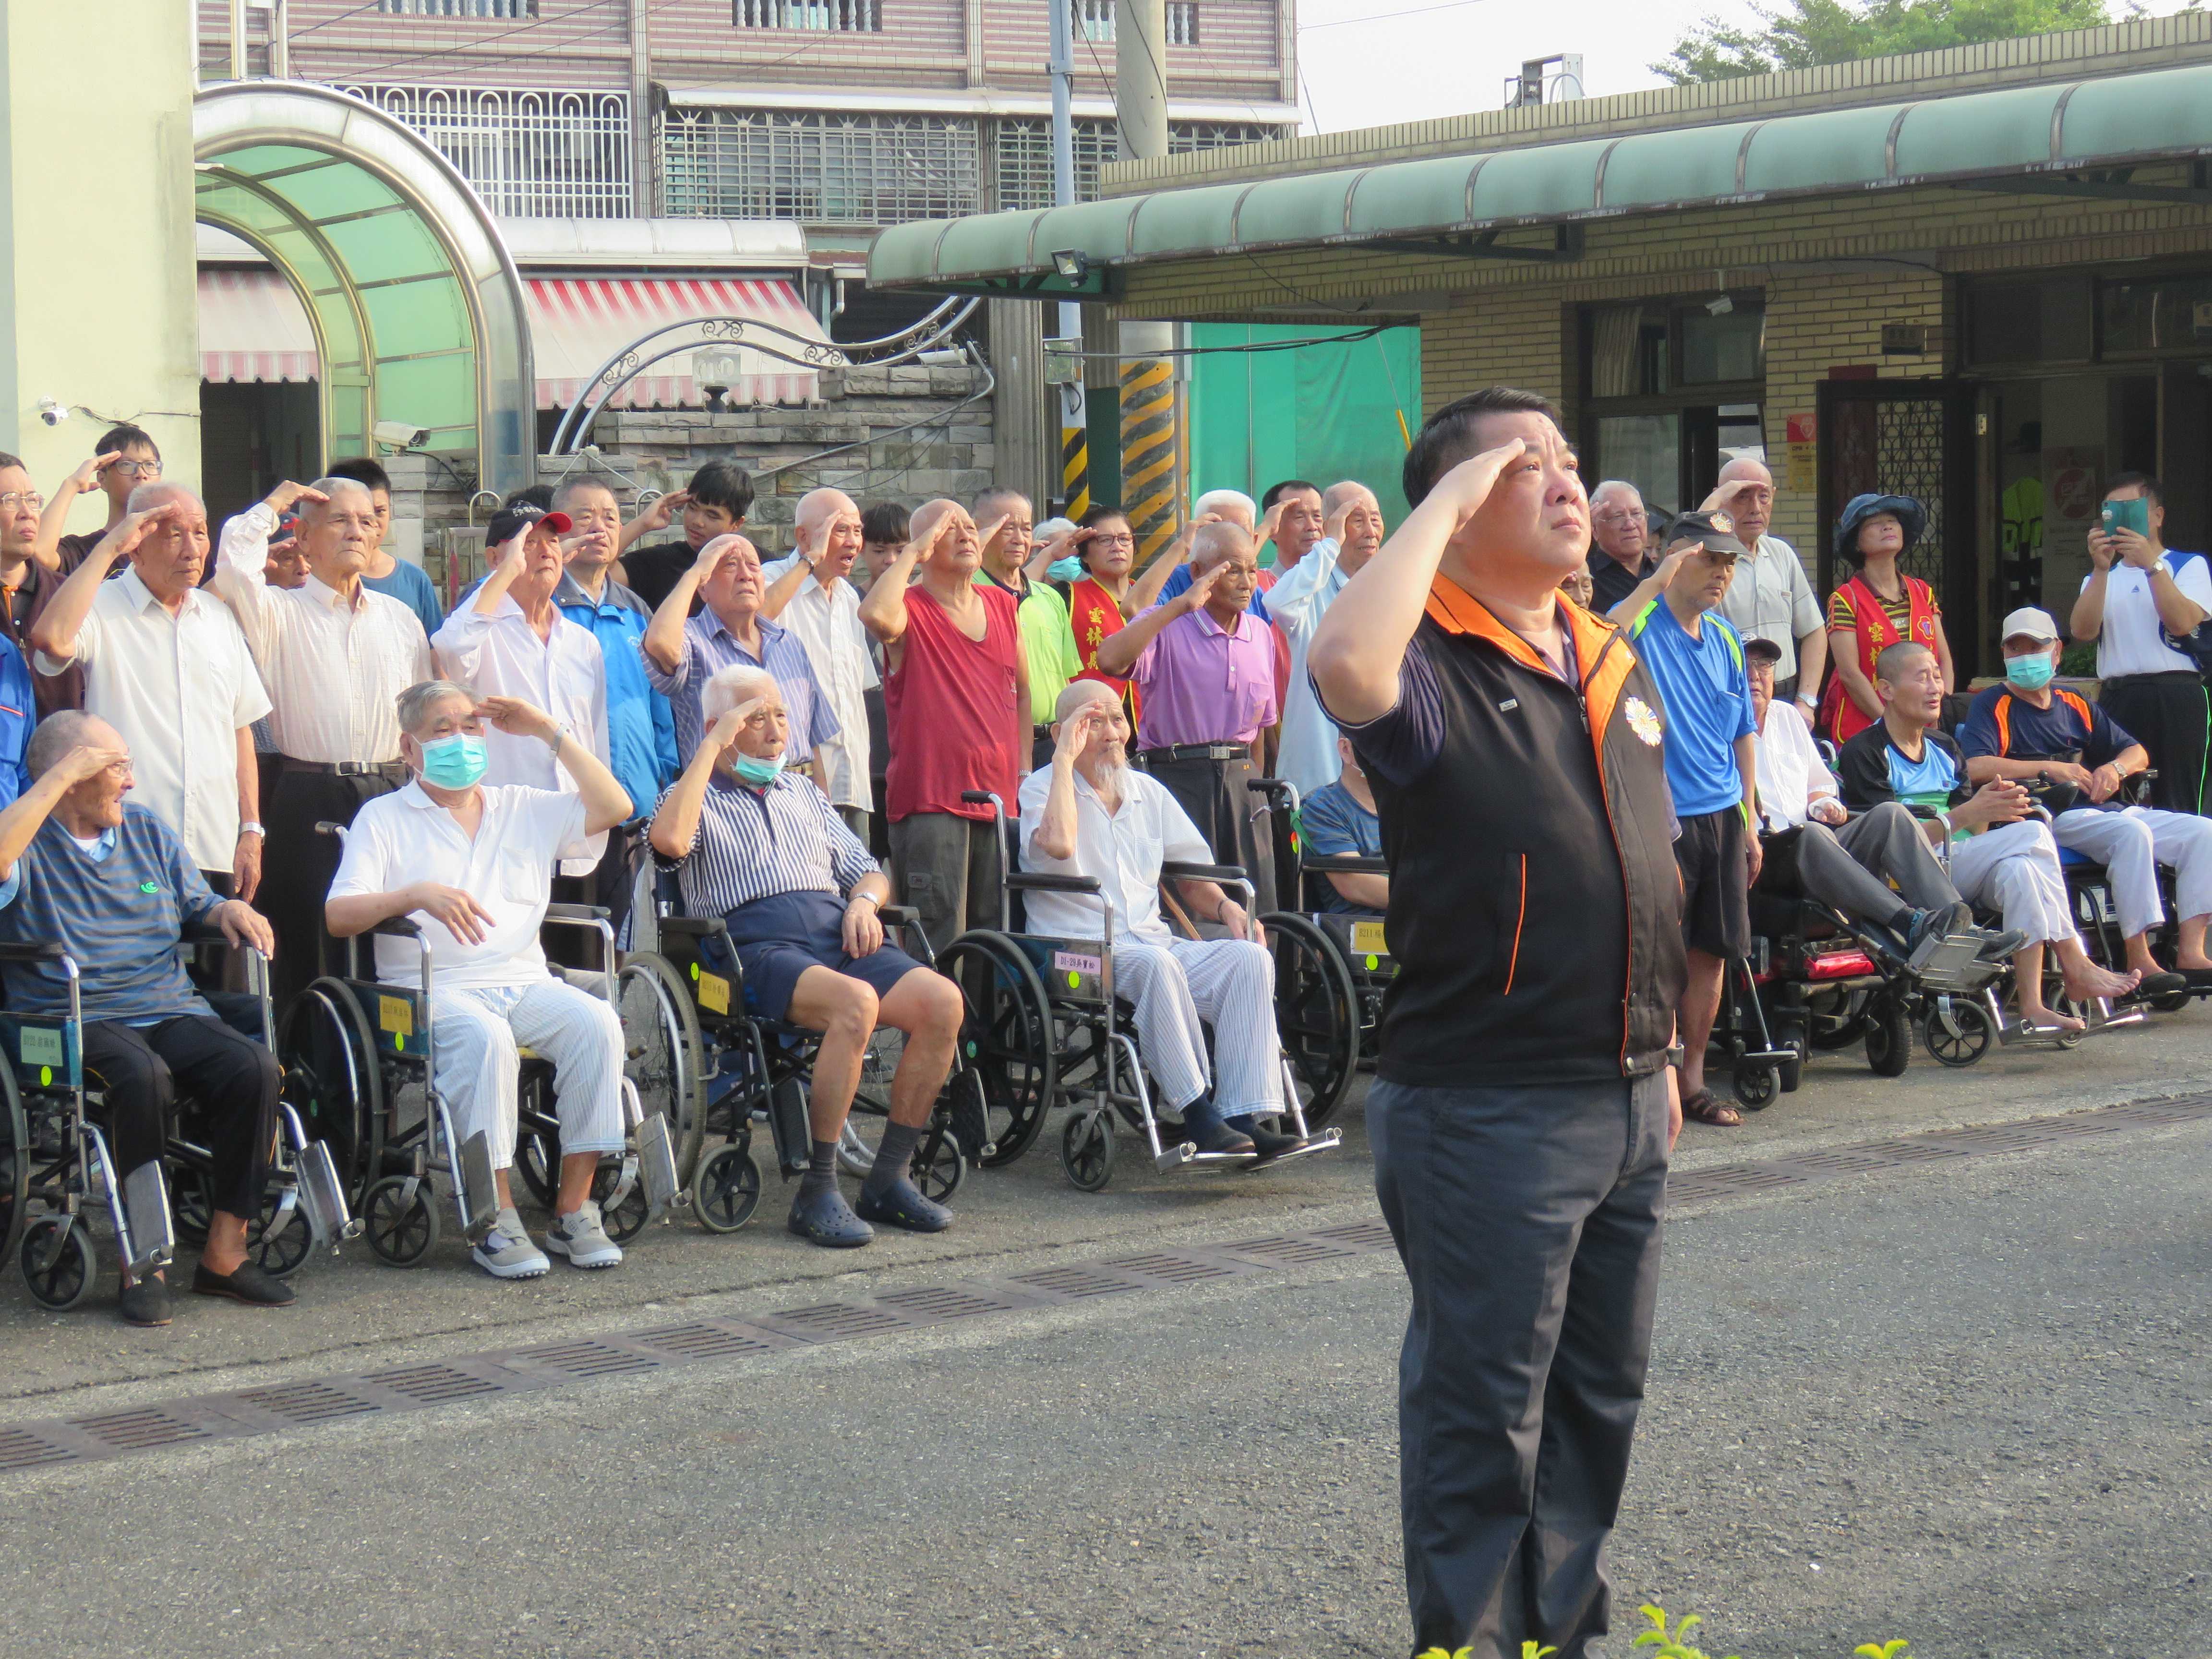
<instances>
[{"instance_id":1,"label":"wheelchair holding the man in striped shirt and navy shorts","mask_svg":"<svg viewBox=\"0 0 2212 1659\"><path fill-rule=\"evenodd\" d=\"M692 1095L697 1110L681 1124L677 1179L701 1228L737 1232L761 1203L761 1166L752 1155L752 1126L759 1119L768 1119L783 1179L807 1172L807 1097L821 1033L745 1011L745 971L719 916L677 914L675 894L666 887L657 909L666 960L655 967L655 987L661 995L672 987L681 1042L699 1079ZM876 914L885 938L898 936L922 967L938 964L918 911L883 905ZM854 1119L889 1121L896 1037L898 1031L878 1029L863 1062L860 1088L838 1144L838 1164L849 1175L867 1175L874 1166L874 1148ZM922 1197L942 1203L960 1188L969 1164L984 1159L989 1150L980 1084L967 1053L956 1048L953 1068L914 1148L914 1183Z\"/></svg>"}]
</instances>

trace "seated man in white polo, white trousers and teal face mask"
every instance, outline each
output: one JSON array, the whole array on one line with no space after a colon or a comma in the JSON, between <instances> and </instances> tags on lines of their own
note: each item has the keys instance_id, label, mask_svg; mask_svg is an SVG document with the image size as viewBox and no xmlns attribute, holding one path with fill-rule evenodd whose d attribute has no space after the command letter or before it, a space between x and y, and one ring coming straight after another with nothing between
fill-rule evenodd
<instances>
[{"instance_id":1,"label":"seated man in white polo, white trousers and teal face mask","mask_svg":"<svg viewBox=\"0 0 2212 1659\"><path fill-rule=\"evenodd\" d=\"M400 757L414 781L372 801L345 838L323 905L332 938L409 918L434 973L434 1086L453 1104L462 1141L489 1141L498 1214L473 1250L493 1279L538 1279L544 1250L524 1230L509 1188L520 1117L520 1053L553 1064L560 1181L546 1250L575 1267L613 1267L591 1183L602 1152L624 1148L622 1022L599 998L546 964L538 942L562 847L630 816L615 774L557 721L513 697L478 701L445 679L400 692ZM484 726L553 750L575 792L487 787ZM376 975L418 987L418 945L378 936Z\"/></svg>"}]
</instances>

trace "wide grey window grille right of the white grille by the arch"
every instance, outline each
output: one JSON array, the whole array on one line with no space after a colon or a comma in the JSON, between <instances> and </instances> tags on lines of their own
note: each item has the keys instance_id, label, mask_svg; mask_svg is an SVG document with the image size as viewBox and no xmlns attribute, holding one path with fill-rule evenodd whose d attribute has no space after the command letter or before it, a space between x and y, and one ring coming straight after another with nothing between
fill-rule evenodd
<instances>
[{"instance_id":1,"label":"wide grey window grille right of the white grille by the arch","mask_svg":"<svg viewBox=\"0 0 2212 1659\"><path fill-rule=\"evenodd\" d=\"M980 210L980 150L953 115L672 108L661 188L679 217L889 226Z\"/></svg>"}]
</instances>

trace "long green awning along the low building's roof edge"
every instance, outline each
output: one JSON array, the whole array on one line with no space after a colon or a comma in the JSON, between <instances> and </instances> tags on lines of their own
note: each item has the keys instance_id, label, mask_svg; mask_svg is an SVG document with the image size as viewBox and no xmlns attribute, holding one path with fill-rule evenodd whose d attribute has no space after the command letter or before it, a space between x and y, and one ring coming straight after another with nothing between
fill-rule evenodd
<instances>
[{"instance_id":1,"label":"long green awning along the low building's roof edge","mask_svg":"<svg viewBox=\"0 0 2212 1659\"><path fill-rule=\"evenodd\" d=\"M2212 66L891 226L872 288L1102 296L1128 265L2212 155ZM2150 195L2146 190L2146 195ZM2177 197L2183 192L2174 192ZM1562 243L1566 246L1566 243ZM1077 281L1055 254L1079 254Z\"/></svg>"}]
</instances>

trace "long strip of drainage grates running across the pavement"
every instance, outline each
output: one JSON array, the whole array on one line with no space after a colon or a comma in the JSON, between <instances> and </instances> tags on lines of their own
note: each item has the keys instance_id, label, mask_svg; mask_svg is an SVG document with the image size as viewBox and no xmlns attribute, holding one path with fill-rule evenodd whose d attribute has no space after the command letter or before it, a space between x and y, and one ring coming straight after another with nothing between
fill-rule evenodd
<instances>
[{"instance_id":1,"label":"long strip of drainage grates running across the pavement","mask_svg":"<svg viewBox=\"0 0 2212 1659\"><path fill-rule=\"evenodd\" d=\"M2143 1099L2097 1113L1936 1130L1891 1141L1838 1146L1761 1164L1683 1170L1670 1201L1730 1201L1783 1192L1869 1170L1940 1164L1991 1152L2064 1146L2126 1128L2163 1128L2212 1117L2212 1093ZM843 1343L945 1321L1071 1305L1166 1285L1201 1285L1272 1267L1305 1267L1391 1250L1380 1221L1347 1221L1312 1232L1279 1232L1192 1250L1146 1250L1104 1261L1060 1263L1009 1274L887 1290L872 1301L785 1307L745 1321L699 1318L617 1336L540 1343L502 1354L396 1365L358 1376L325 1376L239 1394L164 1400L128 1411L0 1427L0 1475L71 1462L159 1451L161 1447L276 1433L383 1411L431 1409L462 1400L566 1387L606 1376L644 1376L699 1360L757 1358L796 1345Z\"/></svg>"}]
</instances>

